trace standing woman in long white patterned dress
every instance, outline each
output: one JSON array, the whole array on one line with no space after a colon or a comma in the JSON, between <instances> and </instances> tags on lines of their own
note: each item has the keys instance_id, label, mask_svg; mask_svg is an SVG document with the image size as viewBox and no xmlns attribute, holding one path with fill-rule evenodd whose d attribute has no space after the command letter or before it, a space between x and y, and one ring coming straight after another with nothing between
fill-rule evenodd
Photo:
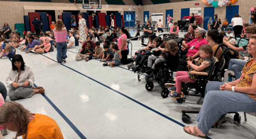
<instances>
[{"instance_id":1,"label":"standing woman in long white patterned dress","mask_svg":"<svg viewBox=\"0 0 256 139\"><path fill-rule=\"evenodd\" d=\"M84 42L86 42L86 36L87 33L85 32L87 30L87 26L86 26L86 20L84 19L84 14L83 13L79 13L79 40L83 46Z\"/></svg>"}]
</instances>

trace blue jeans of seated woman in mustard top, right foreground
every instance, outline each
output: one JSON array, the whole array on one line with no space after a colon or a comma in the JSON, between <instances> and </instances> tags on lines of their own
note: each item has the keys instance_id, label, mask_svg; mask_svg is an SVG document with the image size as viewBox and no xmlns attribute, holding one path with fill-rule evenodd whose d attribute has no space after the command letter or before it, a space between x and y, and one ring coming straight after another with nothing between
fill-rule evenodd
<instances>
[{"instance_id":1,"label":"blue jeans of seated woman in mustard top, right foreground","mask_svg":"<svg viewBox=\"0 0 256 139\"><path fill-rule=\"evenodd\" d=\"M203 106L196 118L198 128L207 134L221 115L228 112L255 112L256 100L253 100L247 94L222 91L220 85L222 82L210 81L205 88L205 97Z\"/></svg>"}]
</instances>

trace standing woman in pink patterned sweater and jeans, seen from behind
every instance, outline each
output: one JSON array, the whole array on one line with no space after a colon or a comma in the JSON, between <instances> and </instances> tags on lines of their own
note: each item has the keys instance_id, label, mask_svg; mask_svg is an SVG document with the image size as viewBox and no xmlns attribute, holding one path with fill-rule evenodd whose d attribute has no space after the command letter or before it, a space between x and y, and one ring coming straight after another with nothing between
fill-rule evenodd
<instances>
[{"instance_id":1,"label":"standing woman in pink patterned sweater and jeans, seen from behind","mask_svg":"<svg viewBox=\"0 0 256 139\"><path fill-rule=\"evenodd\" d=\"M61 19L56 21L56 26L53 30L57 48L57 61L59 64L66 62L67 58L67 29Z\"/></svg>"}]
</instances>

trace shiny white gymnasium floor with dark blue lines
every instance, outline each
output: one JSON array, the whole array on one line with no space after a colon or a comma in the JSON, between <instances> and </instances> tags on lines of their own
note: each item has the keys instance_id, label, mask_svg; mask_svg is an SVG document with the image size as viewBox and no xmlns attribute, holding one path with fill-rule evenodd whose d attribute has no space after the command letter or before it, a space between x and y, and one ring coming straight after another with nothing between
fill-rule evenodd
<instances>
[{"instance_id":1,"label":"shiny white gymnasium floor with dark blue lines","mask_svg":"<svg viewBox=\"0 0 256 139\"><path fill-rule=\"evenodd\" d=\"M184 34L180 32L180 36ZM131 43L132 53L141 48L140 41ZM148 92L145 75L138 81L137 73L128 70L127 65L111 68L103 67L103 62L98 60L76 61L79 49L68 49L64 64L56 62L56 49L45 54L17 50L16 54L21 54L32 67L35 85L44 87L45 94L16 101L32 113L52 117L66 139L197 139L183 131L184 125L197 125L197 114L189 114L192 119L184 124L181 110L200 110L203 99L197 104L199 97L189 96L181 105L169 97L163 99L157 83ZM3 58L0 65L0 81L5 83L11 61ZM6 101L10 101L8 96ZM233 115L228 116L233 119ZM245 122L243 113L240 116L241 124L256 133L256 117L247 114ZM208 136L212 139L253 138L229 120L219 129L210 129ZM4 136L5 139L12 137L15 137L13 132Z\"/></svg>"}]
</instances>

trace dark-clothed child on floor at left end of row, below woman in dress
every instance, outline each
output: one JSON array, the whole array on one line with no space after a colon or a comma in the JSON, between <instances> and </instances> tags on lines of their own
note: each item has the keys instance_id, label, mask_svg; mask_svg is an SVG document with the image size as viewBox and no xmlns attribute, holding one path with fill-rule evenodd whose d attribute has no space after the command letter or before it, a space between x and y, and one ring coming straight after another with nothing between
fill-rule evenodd
<instances>
[{"instance_id":1,"label":"dark-clothed child on floor at left end of row, below woman in dress","mask_svg":"<svg viewBox=\"0 0 256 139\"><path fill-rule=\"evenodd\" d=\"M84 47L84 50L81 51L81 53L77 53L76 61L81 61L85 59L85 61L88 61L93 58L93 44L91 41L87 42L86 47Z\"/></svg>"}]
</instances>

